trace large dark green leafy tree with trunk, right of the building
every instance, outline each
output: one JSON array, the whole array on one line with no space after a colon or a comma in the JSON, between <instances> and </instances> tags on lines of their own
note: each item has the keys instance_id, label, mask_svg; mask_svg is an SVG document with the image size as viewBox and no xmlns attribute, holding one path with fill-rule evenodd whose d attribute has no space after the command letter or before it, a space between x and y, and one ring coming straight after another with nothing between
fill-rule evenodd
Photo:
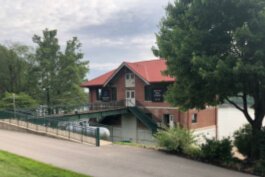
<instances>
[{"instance_id":1,"label":"large dark green leafy tree with trunk, right of the building","mask_svg":"<svg viewBox=\"0 0 265 177\"><path fill-rule=\"evenodd\" d=\"M176 0L166 8L157 46L154 53L176 78L167 100L184 110L228 101L252 126L251 158L257 159L265 115L264 1Z\"/></svg>"}]
</instances>

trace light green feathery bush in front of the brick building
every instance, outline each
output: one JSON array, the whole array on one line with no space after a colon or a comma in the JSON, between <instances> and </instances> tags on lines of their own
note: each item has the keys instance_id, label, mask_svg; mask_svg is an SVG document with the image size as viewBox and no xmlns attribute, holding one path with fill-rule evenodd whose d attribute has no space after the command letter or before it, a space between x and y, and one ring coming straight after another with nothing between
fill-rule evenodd
<instances>
[{"instance_id":1,"label":"light green feathery bush in front of the brick building","mask_svg":"<svg viewBox=\"0 0 265 177\"><path fill-rule=\"evenodd\" d=\"M175 128L158 131L155 138L160 147L179 153L185 153L195 143L192 132L179 125Z\"/></svg>"}]
</instances>

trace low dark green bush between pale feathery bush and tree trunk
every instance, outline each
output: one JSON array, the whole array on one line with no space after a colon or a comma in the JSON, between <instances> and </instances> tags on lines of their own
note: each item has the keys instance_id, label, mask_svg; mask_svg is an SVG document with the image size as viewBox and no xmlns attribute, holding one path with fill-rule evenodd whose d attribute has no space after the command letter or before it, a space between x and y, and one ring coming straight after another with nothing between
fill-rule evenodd
<instances>
[{"instance_id":1,"label":"low dark green bush between pale feathery bush and tree trunk","mask_svg":"<svg viewBox=\"0 0 265 177\"><path fill-rule=\"evenodd\" d=\"M201 145L202 158L209 162L228 164L232 161L232 142L229 138L222 140L206 139Z\"/></svg>"}]
</instances>

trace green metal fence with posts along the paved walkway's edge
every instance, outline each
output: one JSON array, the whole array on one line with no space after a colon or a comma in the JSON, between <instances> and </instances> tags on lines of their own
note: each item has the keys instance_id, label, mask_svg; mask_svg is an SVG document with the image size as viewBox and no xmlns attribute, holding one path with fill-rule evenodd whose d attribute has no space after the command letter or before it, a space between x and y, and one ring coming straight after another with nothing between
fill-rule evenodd
<instances>
[{"instance_id":1,"label":"green metal fence with posts along the paved walkway's edge","mask_svg":"<svg viewBox=\"0 0 265 177\"><path fill-rule=\"evenodd\" d=\"M0 111L0 120L32 131L95 144L96 146L100 146L100 139L111 140L111 136L102 136L100 125L93 124L93 127L80 125L80 122L69 121L63 117L36 117L31 114L2 110Z\"/></svg>"}]
</instances>

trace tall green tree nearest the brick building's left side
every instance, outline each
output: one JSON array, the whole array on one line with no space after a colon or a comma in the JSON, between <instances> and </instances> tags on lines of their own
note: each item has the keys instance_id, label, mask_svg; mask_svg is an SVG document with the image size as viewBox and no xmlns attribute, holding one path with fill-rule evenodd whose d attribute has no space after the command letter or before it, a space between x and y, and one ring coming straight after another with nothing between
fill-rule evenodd
<instances>
[{"instance_id":1,"label":"tall green tree nearest the brick building's left side","mask_svg":"<svg viewBox=\"0 0 265 177\"><path fill-rule=\"evenodd\" d=\"M67 41L64 53L60 55L58 63L58 104L76 105L85 103L87 97L80 83L84 81L88 72L88 62L83 61L81 43L73 37Z\"/></svg>"}]
</instances>

